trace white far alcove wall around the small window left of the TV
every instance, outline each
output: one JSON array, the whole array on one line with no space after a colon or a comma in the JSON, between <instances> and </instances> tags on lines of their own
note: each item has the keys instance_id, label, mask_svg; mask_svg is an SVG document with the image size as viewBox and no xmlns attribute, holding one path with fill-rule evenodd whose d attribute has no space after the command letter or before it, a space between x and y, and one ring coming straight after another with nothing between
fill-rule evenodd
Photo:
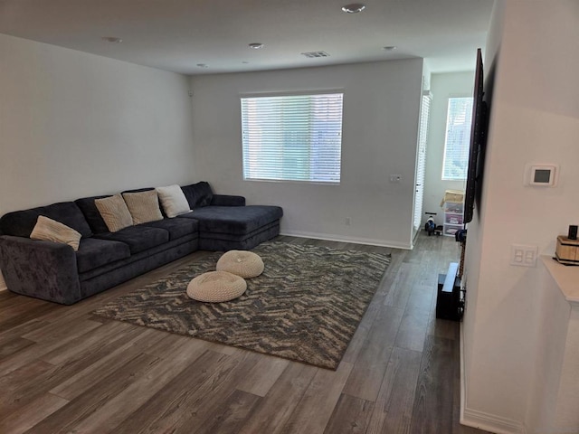
<instances>
[{"instance_id":1,"label":"white far alcove wall around the small window left of the TV","mask_svg":"<svg viewBox=\"0 0 579 434\"><path fill-rule=\"evenodd\" d=\"M442 224L444 221L441 209L444 192L448 189L465 189L466 181L442 180L442 162L449 98L472 97L475 60L476 52L473 52L473 71L432 74L431 76L432 103L428 147L426 148L426 179L422 211L437 212L436 217L434 217L436 224ZM425 221L424 218L422 220Z\"/></svg>"}]
</instances>

